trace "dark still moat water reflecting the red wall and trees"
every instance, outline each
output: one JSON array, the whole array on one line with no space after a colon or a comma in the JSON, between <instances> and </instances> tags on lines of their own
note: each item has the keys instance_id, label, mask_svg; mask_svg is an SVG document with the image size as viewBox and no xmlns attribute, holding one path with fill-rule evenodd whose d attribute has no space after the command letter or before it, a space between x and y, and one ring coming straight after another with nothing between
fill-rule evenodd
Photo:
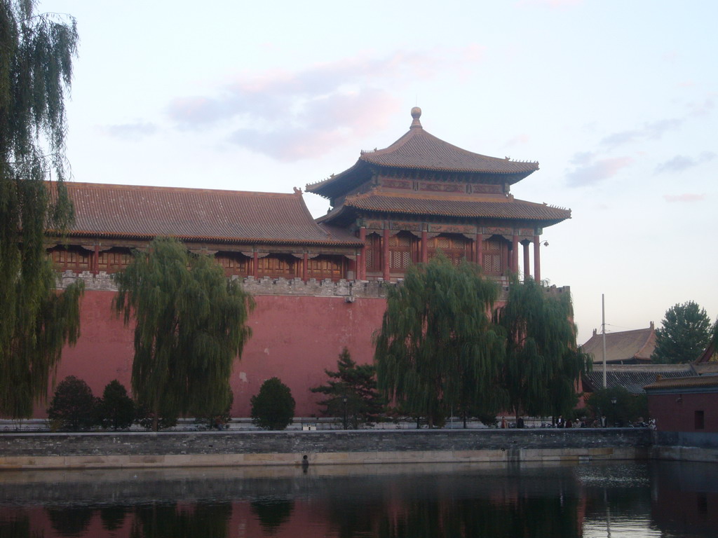
<instances>
[{"instance_id":1,"label":"dark still moat water reflecting the red wall and trees","mask_svg":"<svg viewBox=\"0 0 718 538\"><path fill-rule=\"evenodd\" d=\"M718 465L0 471L0 537L716 537Z\"/></svg>"}]
</instances>

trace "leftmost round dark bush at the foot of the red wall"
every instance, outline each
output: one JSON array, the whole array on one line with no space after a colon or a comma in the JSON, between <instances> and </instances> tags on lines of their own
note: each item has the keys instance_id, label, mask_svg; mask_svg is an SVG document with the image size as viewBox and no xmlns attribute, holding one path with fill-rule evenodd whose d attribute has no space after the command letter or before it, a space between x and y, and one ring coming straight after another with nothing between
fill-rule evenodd
<instances>
[{"instance_id":1,"label":"leftmost round dark bush at the foot of the red wall","mask_svg":"<svg viewBox=\"0 0 718 538\"><path fill-rule=\"evenodd\" d=\"M62 430L78 431L92 428L97 420L98 399L82 379L70 375L57 384L47 417Z\"/></svg>"}]
</instances>

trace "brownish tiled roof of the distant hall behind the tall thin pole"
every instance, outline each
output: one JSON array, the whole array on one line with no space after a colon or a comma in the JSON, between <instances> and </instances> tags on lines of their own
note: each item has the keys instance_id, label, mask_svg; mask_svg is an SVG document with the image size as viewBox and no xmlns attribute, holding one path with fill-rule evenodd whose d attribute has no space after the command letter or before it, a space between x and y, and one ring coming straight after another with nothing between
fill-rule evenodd
<instances>
[{"instance_id":1,"label":"brownish tiled roof of the distant hall behind the tall thin pole","mask_svg":"<svg viewBox=\"0 0 718 538\"><path fill-rule=\"evenodd\" d=\"M582 346L584 352L591 354L594 366L603 364L603 339L603 334L594 329ZM646 329L606 333L605 341L606 364L650 364L656 349L656 328L651 321Z\"/></svg>"}]
</instances>

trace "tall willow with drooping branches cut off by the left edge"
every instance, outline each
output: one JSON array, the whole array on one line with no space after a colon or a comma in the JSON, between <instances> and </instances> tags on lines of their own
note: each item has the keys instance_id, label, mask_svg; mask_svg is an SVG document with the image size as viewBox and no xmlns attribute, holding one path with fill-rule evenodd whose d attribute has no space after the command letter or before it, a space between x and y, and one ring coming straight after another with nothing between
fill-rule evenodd
<instances>
[{"instance_id":1,"label":"tall willow with drooping branches cut off by the left edge","mask_svg":"<svg viewBox=\"0 0 718 538\"><path fill-rule=\"evenodd\" d=\"M62 347L77 339L82 291L55 292L44 247L73 216L64 102L78 34L73 19L33 8L0 0L0 415L17 418L45 401Z\"/></svg>"}]
</instances>

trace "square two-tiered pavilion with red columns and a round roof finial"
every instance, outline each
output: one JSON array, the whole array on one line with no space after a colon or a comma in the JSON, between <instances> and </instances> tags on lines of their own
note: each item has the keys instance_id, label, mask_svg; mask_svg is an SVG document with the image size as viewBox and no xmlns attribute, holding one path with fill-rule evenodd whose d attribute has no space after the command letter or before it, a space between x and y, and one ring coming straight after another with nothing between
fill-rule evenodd
<instances>
[{"instance_id":1,"label":"square two-tiered pavilion with red columns and a round roof finial","mask_svg":"<svg viewBox=\"0 0 718 538\"><path fill-rule=\"evenodd\" d=\"M362 151L340 174L307 185L329 199L318 222L355 233L360 280L397 280L413 263L442 251L501 278L519 272L541 280L544 227L571 218L569 209L515 199L510 186L538 170L533 161L473 153L426 132L421 109L391 146ZM519 245L523 253L519 252ZM530 267L533 245L533 268Z\"/></svg>"}]
</instances>

